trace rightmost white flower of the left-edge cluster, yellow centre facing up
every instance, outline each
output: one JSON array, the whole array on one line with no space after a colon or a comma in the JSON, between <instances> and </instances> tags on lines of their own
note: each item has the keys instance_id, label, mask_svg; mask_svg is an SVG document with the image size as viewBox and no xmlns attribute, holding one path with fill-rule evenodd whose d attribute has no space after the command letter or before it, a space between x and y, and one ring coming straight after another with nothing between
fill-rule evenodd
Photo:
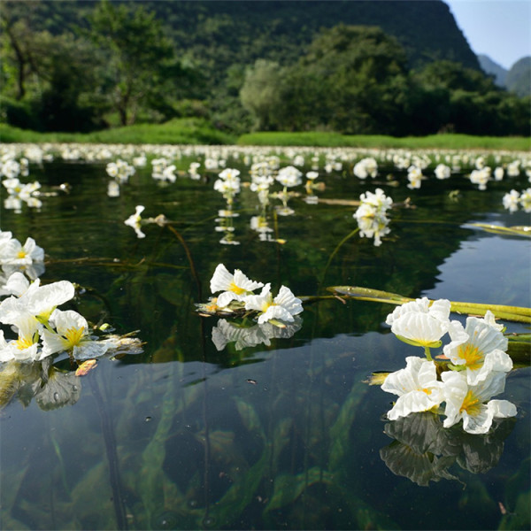
<instances>
[{"instance_id":1,"label":"rightmost white flower of the left-edge cluster, yellow centre facing up","mask_svg":"<svg viewBox=\"0 0 531 531\"><path fill-rule=\"evenodd\" d=\"M89 336L89 324L78 312L56 310L50 316L57 334L42 330L42 358L56 352L71 352L73 358L89 359L103 356L110 343L94 341Z\"/></svg>"}]
</instances>

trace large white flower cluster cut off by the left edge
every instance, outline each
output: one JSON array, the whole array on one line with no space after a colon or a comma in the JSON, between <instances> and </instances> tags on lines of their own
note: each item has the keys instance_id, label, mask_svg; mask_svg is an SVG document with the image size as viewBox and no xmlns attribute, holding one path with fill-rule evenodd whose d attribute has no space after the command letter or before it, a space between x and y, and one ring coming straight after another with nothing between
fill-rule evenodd
<instances>
[{"instance_id":1,"label":"large white flower cluster cut off by the left edge","mask_svg":"<svg viewBox=\"0 0 531 531\"><path fill-rule=\"evenodd\" d=\"M44 251L32 238L21 245L11 232L0 231L4 272L0 277L0 322L11 325L17 335L8 340L0 330L0 362L36 362L61 352L84 360L119 349L120 338L91 335L89 323L80 313L58 309L73 299L75 289L70 281L42 286L35 266L42 265L43 257ZM43 272L43 266L39 271Z\"/></svg>"}]
</instances>

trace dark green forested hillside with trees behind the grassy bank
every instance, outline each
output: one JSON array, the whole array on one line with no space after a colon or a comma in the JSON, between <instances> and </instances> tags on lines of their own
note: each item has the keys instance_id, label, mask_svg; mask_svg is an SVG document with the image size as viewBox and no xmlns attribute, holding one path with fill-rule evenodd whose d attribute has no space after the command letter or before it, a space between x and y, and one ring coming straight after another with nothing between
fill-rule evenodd
<instances>
[{"instance_id":1,"label":"dark green forested hillside with trees behind the grassy bank","mask_svg":"<svg viewBox=\"0 0 531 531\"><path fill-rule=\"evenodd\" d=\"M6 0L0 19L0 119L19 127L528 130L439 0Z\"/></svg>"}]
</instances>

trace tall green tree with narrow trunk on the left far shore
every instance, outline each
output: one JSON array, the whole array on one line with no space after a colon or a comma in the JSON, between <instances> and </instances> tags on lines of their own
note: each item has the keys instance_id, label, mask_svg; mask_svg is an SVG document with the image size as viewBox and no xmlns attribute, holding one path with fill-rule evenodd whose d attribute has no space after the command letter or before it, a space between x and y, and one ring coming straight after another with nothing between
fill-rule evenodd
<instances>
[{"instance_id":1,"label":"tall green tree with narrow trunk on the left far shore","mask_svg":"<svg viewBox=\"0 0 531 531\"><path fill-rule=\"evenodd\" d=\"M141 104L164 94L175 68L172 43L155 13L142 5L102 0L89 22L90 35L104 54L104 91L120 123L131 124Z\"/></svg>"}]
</instances>

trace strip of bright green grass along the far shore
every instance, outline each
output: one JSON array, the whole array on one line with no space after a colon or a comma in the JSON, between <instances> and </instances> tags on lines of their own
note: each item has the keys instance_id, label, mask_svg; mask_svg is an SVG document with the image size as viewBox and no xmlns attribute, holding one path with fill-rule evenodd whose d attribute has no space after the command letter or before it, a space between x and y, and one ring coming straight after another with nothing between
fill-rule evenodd
<instances>
[{"instance_id":1,"label":"strip of bright green grass along the far shore","mask_svg":"<svg viewBox=\"0 0 531 531\"><path fill-rule=\"evenodd\" d=\"M0 124L0 142L94 142L132 144L240 144L273 146L323 146L403 148L408 150L531 150L531 137L429 135L396 138L386 135L337 133L250 133L227 135L203 119L173 119L165 124L139 124L95 133L37 133Z\"/></svg>"}]
</instances>

